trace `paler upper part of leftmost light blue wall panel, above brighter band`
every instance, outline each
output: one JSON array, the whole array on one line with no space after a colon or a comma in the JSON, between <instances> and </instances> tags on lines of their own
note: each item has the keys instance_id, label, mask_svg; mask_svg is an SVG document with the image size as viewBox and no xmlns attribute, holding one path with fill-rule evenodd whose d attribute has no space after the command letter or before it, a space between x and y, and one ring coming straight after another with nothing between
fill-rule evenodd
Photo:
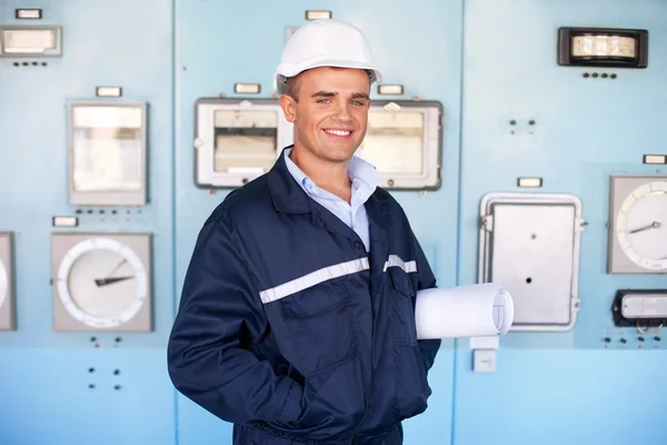
<instances>
[{"instance_id":1,"label":"paler upper part of leftmost light blue wall panel, above brighter band","mask_svg":"<svg viewBox=\"0 0 667 445\"><path fill-rule=\"evenodd\" d=\"M0 189L1 205L7 209L0 214L0 228L16 231L19 326L16 333L0 335L0 345L87 346L88 334L52 332L49 284L51 233L70 230L52 228L51 217L79 216L79 227L71 231L153 234L156 330L123 337L135 347L162 346L173 314L170 3L167 0L153 0L141 7L131 0L49 3L31 4L43 8L44 23L63 27L62 58L44 58L47 67L18 68L13 67L14 59L0 60L3 71ZM24 4L11 1L7 7L8 16L11 13L8 22L16 22L13 9L19 7ZM119 208L112 215L111 208L78 209L68 204L66 107L70 100L96 99L98 86L120 86L122 100L143 100L149 105L146 207Z\"/></svg>"}]
</instances>

